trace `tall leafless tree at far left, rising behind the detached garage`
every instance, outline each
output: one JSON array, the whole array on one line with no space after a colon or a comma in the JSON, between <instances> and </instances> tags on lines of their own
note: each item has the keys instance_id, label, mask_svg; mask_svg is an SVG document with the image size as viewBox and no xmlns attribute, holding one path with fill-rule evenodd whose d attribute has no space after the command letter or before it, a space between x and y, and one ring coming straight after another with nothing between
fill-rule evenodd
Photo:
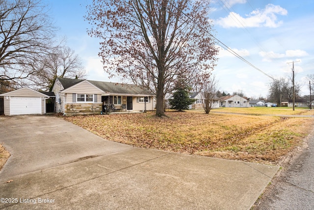
<instances>
[{"instance_id":1,"label":"tall leafless tree at far left, rising behind the detached garage","mask_svg":"<svg viewBox=\"0 0 314 210\"><path fill-rule=\"evenodd\" d=\"M40 0L0 0L0 83L25 85L53 32Z\"/></svg>"}]
</instances>

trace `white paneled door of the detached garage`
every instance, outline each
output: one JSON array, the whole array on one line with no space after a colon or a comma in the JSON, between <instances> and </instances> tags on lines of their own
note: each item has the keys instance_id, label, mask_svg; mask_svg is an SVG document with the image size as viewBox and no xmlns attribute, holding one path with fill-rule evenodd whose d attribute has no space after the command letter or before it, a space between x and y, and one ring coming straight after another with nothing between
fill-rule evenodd
<instances>
[{"instance_id":1,"label":"white paneled door of the detached garage","mask_svg":"<svg viewBox=\"0 0 314 210\"><path fill-rule=\"evenodd\" d=\"M41 114L40 97L11 97L10 115Z\"/></svg>"}]
</instances>

